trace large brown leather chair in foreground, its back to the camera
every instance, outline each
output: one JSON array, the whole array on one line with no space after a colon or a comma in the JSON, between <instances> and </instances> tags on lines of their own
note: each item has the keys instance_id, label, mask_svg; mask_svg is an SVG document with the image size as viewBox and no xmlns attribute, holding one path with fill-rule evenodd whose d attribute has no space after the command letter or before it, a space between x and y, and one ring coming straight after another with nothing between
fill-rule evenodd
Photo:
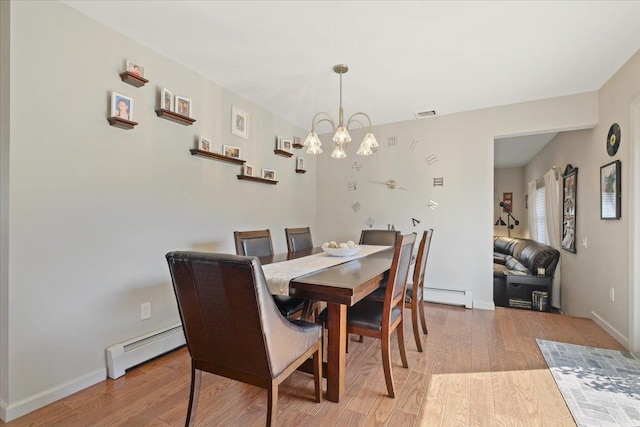
<instances>
[{"instance_id":1,"label":"large brown leather chair in foreground, its back to the camera","mask_svg":"<svg viewBox=\"0 0 640 427\"><path fill-rule=\"evenodd\" d=\"M280 314L257 258L197 252L166 258L191 356L186 426L195 422L203 371L266 389L271 426L278 385L313 357L315 400L322 401L322 327Z\"/></svg>"}]
</instances>

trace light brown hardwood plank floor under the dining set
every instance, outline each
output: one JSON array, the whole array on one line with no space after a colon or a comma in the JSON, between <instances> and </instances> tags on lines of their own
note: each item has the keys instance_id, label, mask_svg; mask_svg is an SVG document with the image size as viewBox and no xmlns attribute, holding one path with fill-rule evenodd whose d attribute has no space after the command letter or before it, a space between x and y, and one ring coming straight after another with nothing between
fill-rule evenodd
<instances>
[{"instance_id":1,"label":"light brown hardwood plank floor under the dining set","mask_svg":"<svg viewBox=\"0 0 640 427\"><path fill-rule=\"evenodd\" d=\"M395 399L387 395L380 340L365 338L349 345L341 402L315 403L312 376L295 372L280 386L278 425L573 426L535 338L623 349L589 319L437 304L427 304L426 313L423 353L405 321L409 369L392 338ZM189 381L189 355L181 348L0 425L184 425ZM204 373L197 425L263 426L266 405L265 390Z\"/></svg>"}]
</instances>

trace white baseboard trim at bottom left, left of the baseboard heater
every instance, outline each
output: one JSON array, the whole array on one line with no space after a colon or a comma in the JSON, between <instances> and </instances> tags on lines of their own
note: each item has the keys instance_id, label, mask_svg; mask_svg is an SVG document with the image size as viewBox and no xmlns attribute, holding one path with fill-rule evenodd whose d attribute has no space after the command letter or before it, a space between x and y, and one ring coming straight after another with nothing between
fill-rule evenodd
<instances>
[{"instance_id":1,"label":"white baseboard trim at bottom left, left of the baseboard heater","mask_svg":"<svg viewBox=\"0 0 640 427\"><path fill-rule=\"evenodd\" d=\"M106 378L107 369L101 368L74 380L67 381L66 383L42 391L26 399L22 399L19 402L12 404L0 402L0 418L4 422L13 421L16 418L28 414L29 412L60 400L63 397L67 397L73 393L97 384L100 381L104 381Z\"/></svg>"}]
</instances>

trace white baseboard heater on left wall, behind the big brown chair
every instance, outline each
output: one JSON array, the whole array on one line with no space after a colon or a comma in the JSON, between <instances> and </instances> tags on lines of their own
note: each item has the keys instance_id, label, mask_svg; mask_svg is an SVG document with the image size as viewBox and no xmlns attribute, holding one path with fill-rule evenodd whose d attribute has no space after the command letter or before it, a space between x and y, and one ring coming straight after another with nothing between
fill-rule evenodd
<instances>
[{"instance_id":1,"label":"white baseboard heater on left wall, behind the big brown chair","mask_svg":"<svg viewBox=\"0 0 640 427\"><path fill-rule=\"evenodd\" d=\"M107 348L109 378L120 378L125 370L158 357L186 343L182 323L130 339Z\"/></svg>"}]
</instances>

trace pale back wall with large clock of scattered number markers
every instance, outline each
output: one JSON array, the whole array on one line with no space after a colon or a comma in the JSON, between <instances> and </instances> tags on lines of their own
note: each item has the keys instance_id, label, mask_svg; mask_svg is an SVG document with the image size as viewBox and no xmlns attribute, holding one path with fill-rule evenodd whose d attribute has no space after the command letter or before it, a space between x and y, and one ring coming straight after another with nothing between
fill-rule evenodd
<instances>
[{"instance_id":1,"label":"pale back wall with large clock of scattered number markers","mask_svg":"<svg viewBox=\"0 0 640 427\"><path fill-rule=\"evenodd\" d=\"M470 289L474 307L493 308L494 137L593 127L597 111L597 93L588 93L377 126L381 147L366 158L355 155L361 136L354 133L347 159L318 158L319 236L357 238L368 217L374 228L394 224L405 233L432 227L427 286ZM390 136L397 146L387 145ZM429 166L431 154L438 161ZM360 172L354 161L363 165ZM433 187L434 177L443 177L444 187ZM388 179L407 191L374 183ZM357 181L358 190L348 191L349 181ZM439 203L436 211L427 207L430 199ZM354 202L361 205L357 213ZM412 217L422 222L413 227Z\"/></svg>"}]
</instances>

